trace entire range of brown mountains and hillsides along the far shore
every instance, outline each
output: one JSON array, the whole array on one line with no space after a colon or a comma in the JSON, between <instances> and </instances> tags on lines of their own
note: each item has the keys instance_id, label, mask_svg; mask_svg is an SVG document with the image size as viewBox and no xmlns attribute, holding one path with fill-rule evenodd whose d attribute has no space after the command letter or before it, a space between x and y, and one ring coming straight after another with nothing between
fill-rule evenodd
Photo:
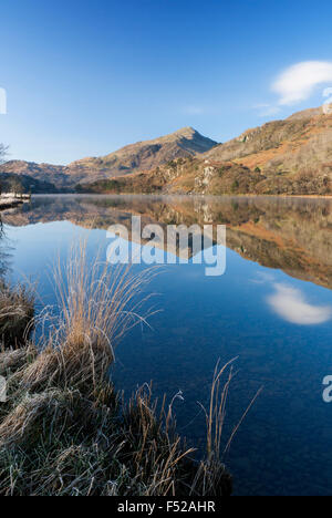
<instances>
[{"instance_id":1,"label":"entire range of brown mountains and hillsides along the far shore","mask_svg":"<svg viewBox=\"0 0 332 518\"><path fill-rule=\"evenodd\" d=\"M332 106L245 131L224 144L190 126L68 166L9 162L58 189L92 193L332 194Z\"/></svg>"}]
</instances>

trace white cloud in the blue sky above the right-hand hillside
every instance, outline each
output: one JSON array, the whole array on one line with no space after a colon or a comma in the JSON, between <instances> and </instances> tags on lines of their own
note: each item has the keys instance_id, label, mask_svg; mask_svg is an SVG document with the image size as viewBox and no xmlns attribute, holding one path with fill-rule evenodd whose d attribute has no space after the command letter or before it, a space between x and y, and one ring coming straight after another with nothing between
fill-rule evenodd
<instances>
[{"instance_id":1,"label":"white cloud in the blue sky above the right-hand hillside","mask_svg":"<svg viewBox=\"0 0 332 518\"><path fill-rule=\"evenodd\" d=\"M308 100L319 85L332 83L332 62L304 61L284 70L272 84L280 95L279 105L292 105Z\"/></svg>"}]
</instances>

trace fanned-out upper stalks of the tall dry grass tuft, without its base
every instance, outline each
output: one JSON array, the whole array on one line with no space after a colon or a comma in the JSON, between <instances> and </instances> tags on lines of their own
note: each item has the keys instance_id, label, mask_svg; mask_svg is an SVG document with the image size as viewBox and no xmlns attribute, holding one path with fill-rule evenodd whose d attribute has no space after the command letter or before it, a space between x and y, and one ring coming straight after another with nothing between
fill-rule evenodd
<instances>
[{"instance_id":1,"label":"fanned-out upper stalks of the tall dry grass tuft, without its base","mask_svg":"<svg viewBox=\"0 0 332 518\"><path fill-rule=\"evenodd\" d=\"M68 341L80 341L93 330L92 341L112 344L137 322L146 322L141 310L147 297L144 287L154 269L134 274L131 266L110 267L98 257L89 260L84 241L74 246L63 266L54 271L55 291L62 308L63 331Z\"/></svg>"}]
</instances>

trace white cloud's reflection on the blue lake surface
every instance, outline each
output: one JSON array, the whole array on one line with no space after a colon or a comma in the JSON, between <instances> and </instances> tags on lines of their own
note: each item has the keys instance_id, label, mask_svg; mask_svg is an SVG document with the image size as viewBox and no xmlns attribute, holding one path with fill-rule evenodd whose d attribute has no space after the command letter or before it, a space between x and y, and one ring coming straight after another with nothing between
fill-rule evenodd
<instances>
[{"instance_id":1,"label":"white cloud's reflection on the blue lake surface","mask_svg":"<svg viewBox=\"0 0 332 518\"><path fill-rule=\"evenodd\" d=\"M268 298L268 303L287 322L313 325L326 322L332 318L330 305L310 304L300 290L281 283L276 283L274 289L276 293Z\"/></svg>"}]
</instances>

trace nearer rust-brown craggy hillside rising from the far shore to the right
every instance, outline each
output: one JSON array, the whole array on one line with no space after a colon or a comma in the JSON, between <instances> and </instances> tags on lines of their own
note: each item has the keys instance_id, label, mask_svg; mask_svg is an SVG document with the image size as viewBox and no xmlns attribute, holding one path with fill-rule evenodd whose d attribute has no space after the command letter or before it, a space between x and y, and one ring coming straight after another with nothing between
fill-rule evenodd
<instances>
[{"instance_id":1,"label":"nearer rust-brown craggy hillside rising from the far shore to the right","mask_svg":"<svg viewBox=\"0 0 332 518\"><path fill-rule=\"evenodd\" d=\"M194 158L83 186L94 193L332 193L332 113L313 108L248 130ZM82 189L82 188L81 188Z\"/></svg>"}]
</instances>

